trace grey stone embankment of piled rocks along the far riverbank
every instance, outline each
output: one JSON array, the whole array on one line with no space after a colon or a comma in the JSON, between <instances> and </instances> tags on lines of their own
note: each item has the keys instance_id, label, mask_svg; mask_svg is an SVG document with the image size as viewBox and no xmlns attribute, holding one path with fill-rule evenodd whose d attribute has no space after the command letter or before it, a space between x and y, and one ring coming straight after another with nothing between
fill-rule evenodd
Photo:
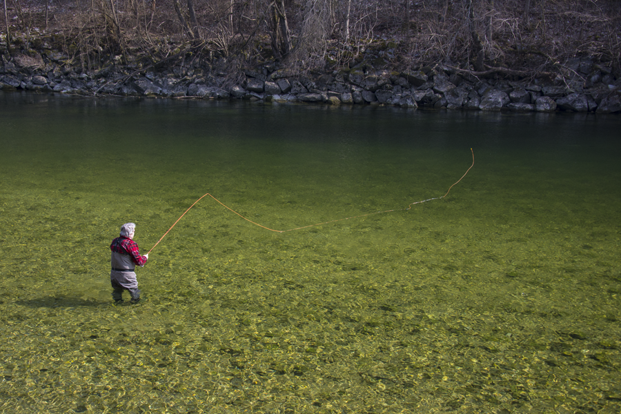
<instances>
[{"instance_id":1,"label":"grey stone embankment of piled rocks along the far riverbank","mask_svg":"<svg viewBox=\"0 0 621 414\"><path fill-rule=\"evenodd\" d=\"M574 59L556 79L484 79L443 66L391 72L360 63L314 78L268 66L246 71L245 80L222 88L224 74L207 64L138 70L112 66L84 72L61 53L17 56L0 62L0 88L78 95L248 99L310 103L384 104L406 108L509 110L515 112L621 112L621 79L590 59Z\"/></svg>"}]
</instances>

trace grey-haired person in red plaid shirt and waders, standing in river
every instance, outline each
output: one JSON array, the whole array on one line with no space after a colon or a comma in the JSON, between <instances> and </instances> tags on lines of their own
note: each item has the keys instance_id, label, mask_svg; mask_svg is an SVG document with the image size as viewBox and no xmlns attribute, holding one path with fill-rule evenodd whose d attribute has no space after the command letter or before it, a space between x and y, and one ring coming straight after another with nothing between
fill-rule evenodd
<instances>
[{"instance_id":1,"label":"grey-haired person in red plaid shirt and waders, standing in river","mask_svg":"<svg viewBox=\"0 0 621 414\"><path fill-rule=\"evenodd\" d=\"M121 235L112 240L110 250L110 283L112 284L112 299L115 304L123 303L123 290L128 290L132 299L130 303L135 304L140 300L140 290L138 290L138 281L134 272L136 265L144 266L149 255L141 256L138 251L138 245L134 242L134 233L136 225L126 223L121 226Z\"/></svg>"}]
</instances>

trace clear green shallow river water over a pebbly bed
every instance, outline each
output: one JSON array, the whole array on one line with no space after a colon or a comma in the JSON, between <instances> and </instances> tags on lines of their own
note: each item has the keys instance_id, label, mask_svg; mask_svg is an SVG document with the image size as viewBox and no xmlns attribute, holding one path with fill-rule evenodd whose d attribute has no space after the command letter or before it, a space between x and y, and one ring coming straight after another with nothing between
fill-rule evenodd
<instances>
[{"instance_id":1,"label":"clear green shallow river water over a pebbly bed","mask_svg":"<svg viewBox=\"0 0 621 414\"><path fill-rule=\"evenodd\" d=\"M2 409L616 413L619 126L0 94Z\"/></svg>"}]
</instances>

